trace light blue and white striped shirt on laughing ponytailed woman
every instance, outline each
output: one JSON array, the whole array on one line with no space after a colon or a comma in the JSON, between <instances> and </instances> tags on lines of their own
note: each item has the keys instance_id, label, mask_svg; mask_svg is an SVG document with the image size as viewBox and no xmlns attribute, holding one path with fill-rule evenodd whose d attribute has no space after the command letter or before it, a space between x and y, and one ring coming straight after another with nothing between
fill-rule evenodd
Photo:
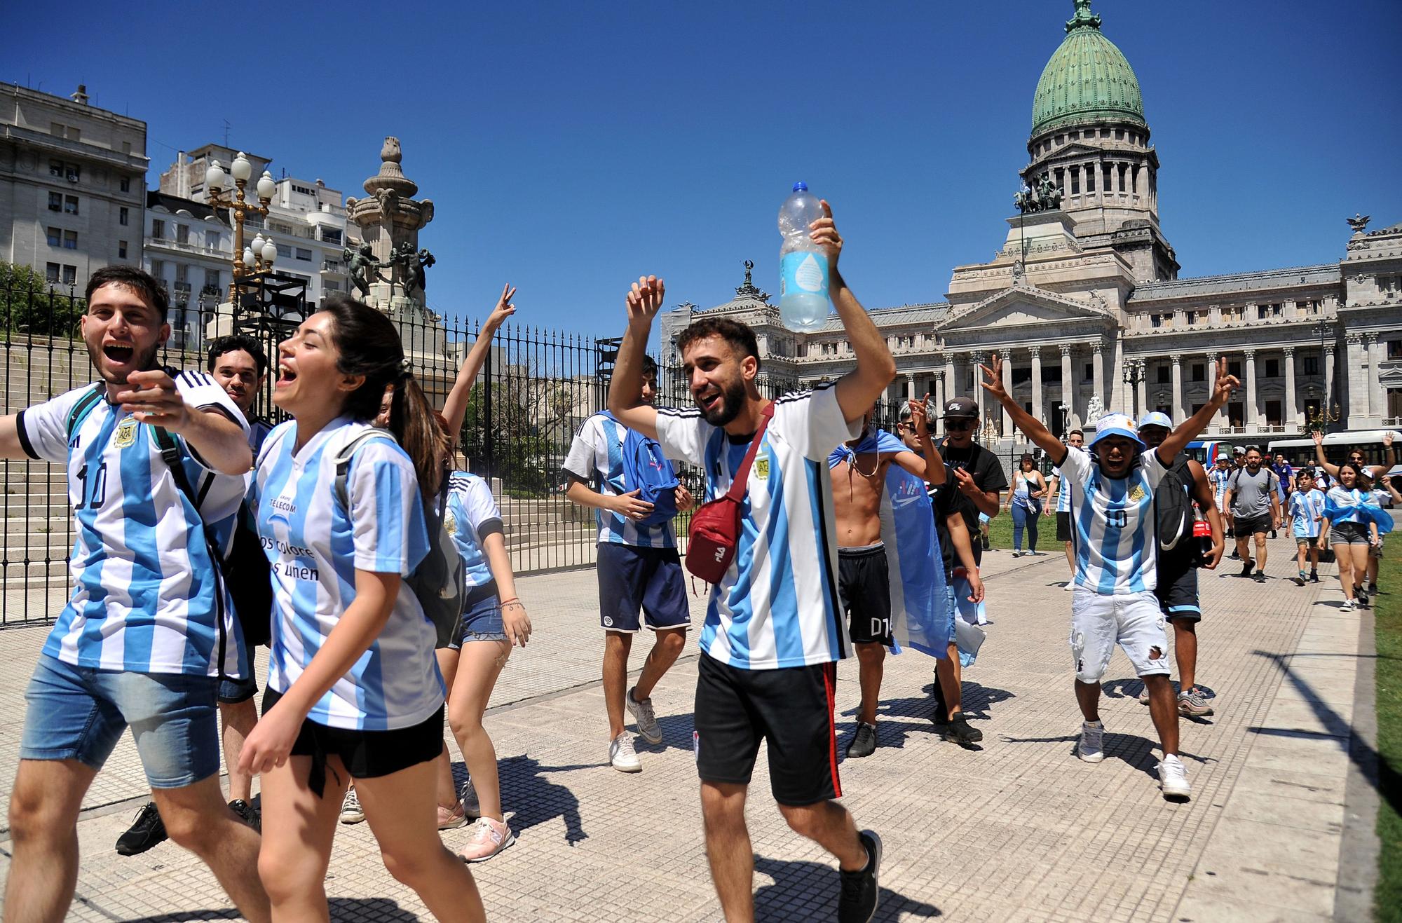
<instances>
[{"instance_id":1,"label":"light blue and white striped shirt on laughing ponytailed woman","mask_svg":"<svg viewBox=\"0 0 1402 923\"><path fill-rule=\"evenodd\" d=\"M264 442L248 502L272 564L268 687L279 693L301 676L355 600L356 571L407 577L428 553L414 464L394 436L386 432L356 446L346 498L335 490L336 456L367 429L341 417L294 453L292 419ZM360 731L426 721L444 696L436 640L414 591L401 582L384 628L307 717Z\"/></svg>"}]
</instances>

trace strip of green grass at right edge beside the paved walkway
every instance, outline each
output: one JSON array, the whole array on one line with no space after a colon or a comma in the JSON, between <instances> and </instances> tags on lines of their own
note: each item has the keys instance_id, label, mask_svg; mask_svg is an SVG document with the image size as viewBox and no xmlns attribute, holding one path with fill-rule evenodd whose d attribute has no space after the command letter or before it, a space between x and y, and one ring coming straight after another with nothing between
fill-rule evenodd
<instances>
[{"instance_id":1,"label":"strip of green grass at right edge beside the paved walkway","mask_svg":"<svg viewBox=\"0 0 1402 923\"><path fill-rule=\"evenodd\" d=\"M1391 539L1398 541L1398 539ZM1402 558L1394 546L1382 558L1378 584L1387 591L1374 610L1378 711L1378 887L1375 919L1402 923ZM1391 802L1391 804L1389 804Z\"/></svg>"}]
</instances>

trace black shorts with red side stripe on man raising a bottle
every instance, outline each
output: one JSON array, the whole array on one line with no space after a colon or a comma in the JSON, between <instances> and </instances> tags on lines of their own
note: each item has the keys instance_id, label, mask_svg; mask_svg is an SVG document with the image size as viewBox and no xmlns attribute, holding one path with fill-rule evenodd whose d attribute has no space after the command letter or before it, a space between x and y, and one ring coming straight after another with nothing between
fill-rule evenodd
<instances>
[{"instance_id":1,"label":"black shorts with red side stripe on man raising a bottle","mask_svg":"<svg viewBox=\"0 0 1402 923\"><path fill-rule=\"evenodd\" d=\"M747 671L701 654L691 732L701 781L749 786L767 741L775 801L840 798L836 683L837 663Z\"/></svg>"}]
</instances>

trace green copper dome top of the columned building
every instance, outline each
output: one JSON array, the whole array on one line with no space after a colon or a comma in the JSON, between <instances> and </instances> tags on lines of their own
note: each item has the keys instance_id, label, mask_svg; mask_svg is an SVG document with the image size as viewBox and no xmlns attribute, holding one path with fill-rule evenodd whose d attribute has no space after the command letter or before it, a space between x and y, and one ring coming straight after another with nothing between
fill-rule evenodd
<instances>
[{"instance_id":1,"label":"green copper dome top of the columned building","mask_svg":"<svg viewBox=\"0 0 1402 923\"><path fill-rule=\"evenodd\" d=\"M1032 133L1095 121L1143 125L1138 79L1115 42L1101 34L1091 0L1075 0L1067 36L1042 70L1032 98Z\"/></svg>"}]
</instances>

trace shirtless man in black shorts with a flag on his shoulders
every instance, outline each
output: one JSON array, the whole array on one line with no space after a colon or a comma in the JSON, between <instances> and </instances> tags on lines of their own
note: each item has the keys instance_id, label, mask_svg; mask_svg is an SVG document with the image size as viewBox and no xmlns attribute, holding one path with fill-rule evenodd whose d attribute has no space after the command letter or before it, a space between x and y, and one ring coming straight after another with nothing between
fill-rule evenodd
<instances>
[{"instance_id":1,"label":"shirtless man in black shorts with a flag on his shoulders","mask_svg":"<svg viewBox=\"0 0 1402 923\"><path fill-rule=\"evenodd\" d=\"M890 633L890 574L880 537L880 499L886 471L899 464L928 484L944 484L945 463L930 439L924 401L910 401L921 454L908 449L878 452L872 429L873 410L866 411L862 435L838 447L830 462L833 512L837 522L837 593L847 612L848 634L857 648L862 704L857 734L847 756L871 756L876 750L876 703L880 699L882 666ZM921 457L924 456L924 457Z\"/></svg>"}]
</instances>

